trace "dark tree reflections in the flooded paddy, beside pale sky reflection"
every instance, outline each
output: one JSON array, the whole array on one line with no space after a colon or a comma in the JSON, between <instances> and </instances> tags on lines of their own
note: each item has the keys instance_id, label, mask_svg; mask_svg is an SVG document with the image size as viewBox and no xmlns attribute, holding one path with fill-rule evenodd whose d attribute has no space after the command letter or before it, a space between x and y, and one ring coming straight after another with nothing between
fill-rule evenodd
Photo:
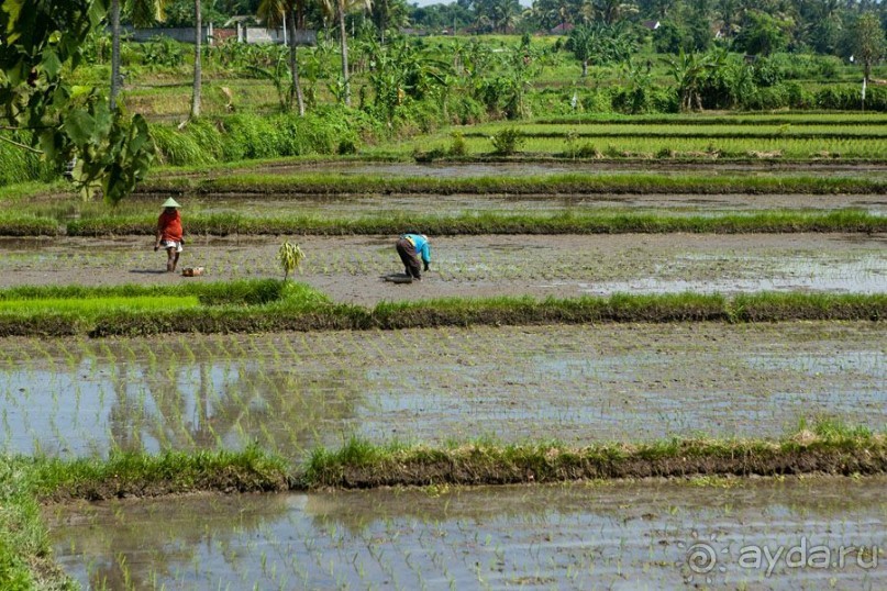
<instances>
[{"instance_id":1,"label":"dark tree reflections in the flooded paddy, beside pale sky reflection","mask_svg":"<svg viewBox=\"0 0 887 591\"><path fill-rule=\"evenodd\" d=\"M264 343L246 345L226 339L224 353L215 355L182 339L155 347L147 364L115 366L113 444L138 450L152 442L164 449L258 442L295 458L322 437L323 424L352 416L361 380L355 372L306 367L286 341L263 350L255 348Z\"/></svg>"}]
</instances>

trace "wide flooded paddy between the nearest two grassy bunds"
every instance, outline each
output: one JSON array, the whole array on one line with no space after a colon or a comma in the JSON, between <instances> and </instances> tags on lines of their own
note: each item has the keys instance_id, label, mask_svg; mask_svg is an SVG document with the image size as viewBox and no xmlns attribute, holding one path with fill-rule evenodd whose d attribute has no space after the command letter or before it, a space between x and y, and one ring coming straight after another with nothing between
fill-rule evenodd
<instances>
[{"instance_id":1,"label":"wide flooded paddy between the nearest two grassy bunds","mask_svg":"<svg viewBox=\"0 0 887 591\"><path fill-rule=\"evenodd\" d=\"M477 327L5 339L1 448L242 448L781 436L887 425L878 323Z\"/></svg>"}]
</instances>

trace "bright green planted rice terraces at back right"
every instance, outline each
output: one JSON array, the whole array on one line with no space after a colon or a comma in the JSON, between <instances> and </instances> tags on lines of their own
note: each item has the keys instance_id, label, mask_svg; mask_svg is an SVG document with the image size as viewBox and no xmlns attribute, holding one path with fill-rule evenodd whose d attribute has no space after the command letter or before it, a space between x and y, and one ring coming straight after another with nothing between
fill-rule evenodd
<instances>
[{"instance_id":1,"label":"bright green planted rice terraces at back right","mask_svg":"<svg viewBox=\"0 0 887 591\"><path fill-rule=\"evenodd\" d=\"M487 123L425 142L420 160L515 155L524 158L883 160L885 118L853 115L568 116ZM431 146L431 147L429 147Z\"/></svg>"}]
</instances>

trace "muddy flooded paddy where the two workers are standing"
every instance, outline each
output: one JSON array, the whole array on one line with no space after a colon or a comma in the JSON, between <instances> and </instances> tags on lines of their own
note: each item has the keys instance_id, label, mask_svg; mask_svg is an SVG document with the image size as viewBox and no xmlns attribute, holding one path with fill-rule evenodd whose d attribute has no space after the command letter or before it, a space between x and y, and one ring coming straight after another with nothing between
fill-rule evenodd
<instances>
[{"instance_id":1,"label":"muddy flooded paddy where the two workers are standing","mask_svg":"<svg viewBox=\"0 0 887 591\"><path fill-rule=\"evenodd\" d=\"M402 272L396 236L301 236L298 280L341 302L441 297L572 298L616 292L816 291L877 293L887 288L887 235L620 234L432 236L432 271L409 286L384 281ZM293 238L290 238L293 239ZM151 237L30 238L0 242L0 287L218 281L280 277L282 237L195 236L181 267L165 270Z\"/></svg>"}]
</instances>

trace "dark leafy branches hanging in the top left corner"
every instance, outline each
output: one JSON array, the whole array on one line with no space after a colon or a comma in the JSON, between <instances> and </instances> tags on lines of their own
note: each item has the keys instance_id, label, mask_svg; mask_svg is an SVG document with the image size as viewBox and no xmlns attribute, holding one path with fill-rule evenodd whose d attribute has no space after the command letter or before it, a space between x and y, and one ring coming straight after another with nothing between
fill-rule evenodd
<instances>
[{"instance_id":1,"label":"dark leafy branches hanging in the top left corner","mask_svg":"<svg viewBox=\"0 0 887 591\"><path fill-rule=\"evenodd\" d=\"M75 88L67 71L84 62L82 46L100 26L104 0L10 0L0 10L0 141L38 153L89 197L111 203L129 194L154 155L143 116L113 112L97 88ZM14 172L22 172L15 170ZM23 175L18 180L37 178Z\"/></svg>"}]
</instances>

